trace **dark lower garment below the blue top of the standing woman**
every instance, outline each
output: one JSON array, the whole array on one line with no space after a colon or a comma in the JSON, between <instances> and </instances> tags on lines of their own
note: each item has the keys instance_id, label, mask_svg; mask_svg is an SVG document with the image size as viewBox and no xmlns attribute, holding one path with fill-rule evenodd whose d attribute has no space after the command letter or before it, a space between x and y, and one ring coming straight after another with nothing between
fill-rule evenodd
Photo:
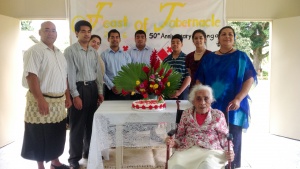
<instances>
[{"instance_id":1,"label":"dark lower garment below the blue top of the standing woman","mask_svg":"<svg viewBox=\"0 0 300 169\"><path fill-rule=\"evenodd\" d=\"M233 151L234 151L234 161L231 163L231 168L241 167L241 152L242 152L242 127L229 124L229 132L233 136Z\"/></svg>"}]
</instances>

